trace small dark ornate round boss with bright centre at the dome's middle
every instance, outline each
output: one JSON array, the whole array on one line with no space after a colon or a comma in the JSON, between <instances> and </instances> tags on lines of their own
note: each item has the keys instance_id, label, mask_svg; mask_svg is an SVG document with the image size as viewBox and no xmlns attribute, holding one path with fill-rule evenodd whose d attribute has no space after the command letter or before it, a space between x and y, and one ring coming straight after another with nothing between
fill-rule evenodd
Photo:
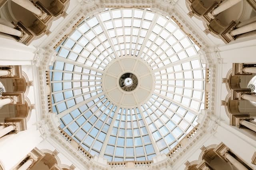
<instances>
[{"instance_id":1,"label":"small dark ornate round boss with bright centre at the dome's middle","mask_svg":"<svg viewBox=\"0 0 256 170\"><path fill-rule=\"evenodd\" d=\"M137 87L138 79L132 73L125 73L120 77L119 85L124 91L130 92Z\"/></svg>"}]
</instances>

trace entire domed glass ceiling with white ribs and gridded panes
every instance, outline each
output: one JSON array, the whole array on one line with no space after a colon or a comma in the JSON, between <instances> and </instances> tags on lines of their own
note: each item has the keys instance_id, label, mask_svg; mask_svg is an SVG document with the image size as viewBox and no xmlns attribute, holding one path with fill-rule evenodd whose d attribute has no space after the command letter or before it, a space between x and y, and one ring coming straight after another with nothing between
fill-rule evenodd
<instances>
[{"instance_id":1,"label":"entire domed glass ceiling with white ribs and gridded panes","mask_svg":"<svg viewBox=\"0 0 256 170\"><path fill-rule=\"evenodd\" d=\"M198 50L171 18L149 9L106 9L84 19L50 67L60 127L108 161L167 154L204 109Z\"/></svg>"}]
</instances>

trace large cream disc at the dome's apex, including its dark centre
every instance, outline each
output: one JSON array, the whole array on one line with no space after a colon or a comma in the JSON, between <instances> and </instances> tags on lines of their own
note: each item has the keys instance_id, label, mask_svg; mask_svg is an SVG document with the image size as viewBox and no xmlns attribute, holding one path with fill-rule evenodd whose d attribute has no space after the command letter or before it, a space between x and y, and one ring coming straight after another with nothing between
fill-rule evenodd
<instances>
[{"instance_id":1,"label":"large cream disc at the dome's apex, including its dark centre","mask_svg":"<svg viewBox=\"0 0 256 170\"><path fill-rule=\"evenodd\" d=\"M151 96L154 74L148 63L139 57L124 56L108 64L103 74L102 87L106 97L114 104L138 107Z\"/></svg>"}]
</instances>

